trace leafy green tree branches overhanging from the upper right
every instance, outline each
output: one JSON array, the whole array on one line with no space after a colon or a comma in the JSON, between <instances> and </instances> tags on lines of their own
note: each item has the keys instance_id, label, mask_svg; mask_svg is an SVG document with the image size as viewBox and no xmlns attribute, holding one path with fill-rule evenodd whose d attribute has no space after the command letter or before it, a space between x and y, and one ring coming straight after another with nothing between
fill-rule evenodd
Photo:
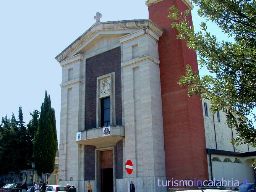
<instances>
[{"instance_id":1,"label":"leafy green tree branches overhanging from the upper right","mask_svg":"<svg viewBox=\"0 0 256 192\"><path fill-rule=\"evenodd\" d=\"M224 110L227 123L235 127L238 137L232 144L256 147L256 129L252 110L256 106L256 0L194 0L198 15L217 24L230 41L218 42L215 35L201 23L201 31L187 20L190 11L180 13L171 7L169 18L177 37L197 52L199 65L212 75L200 77L187 65L186 75L179 84L188 87L188 95L201 94L211 100L211 110ZM248 118L245 118L248 117Z\"/></svg>"}]
</instances>

